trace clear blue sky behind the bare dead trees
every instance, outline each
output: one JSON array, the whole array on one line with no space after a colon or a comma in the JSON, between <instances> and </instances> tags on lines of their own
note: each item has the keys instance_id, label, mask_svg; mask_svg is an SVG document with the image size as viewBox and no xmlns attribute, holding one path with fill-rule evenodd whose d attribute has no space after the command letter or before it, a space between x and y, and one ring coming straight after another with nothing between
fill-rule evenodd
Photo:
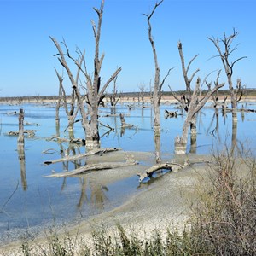
<instances>
[{"instance_id":1,"label":"clear blue sky behind the bare dead trees","mask_svg":"<svg viewBox=\"0 0 256 256\"><path fill-rule=\"evenodd\" d=\"M86 51L87 68L93 70L94 38L90 20L97 20L92 9L100 0L0 0L0 96L57 95L58 80L54 67L62 67L54 55L52 36L60 42L65 38L75 56L78 46ZM105 0L102 20L101 52L105 53L102 79L107 80L117 67L119 91L138 91L144 84L149 88L154 79L154 59L148 41L148 14L155 0ZM207 37L223 37L236 28L239 32L234 46L238 49L232 59L237 62L234 83L240 78L247 88L256 88L256 0L164 0L151 20L154 43L163 78L164 90L183 90L183 75L177 42L183 43L188 63L199 56L190 67L201 71L201 79L218 68L217 50ZM210 60L209 60L210 59ZM208 60L208 61L207 61ZM224 73L224 70L223 70ZM215 79L213 73L210 80ZM226 82L225 77L220 82ZM64 84L70 87L67 75ZM226 86L225 86L226 88ZM108 91L110 92L110 87Z\"/></svg>"}]
</instances>

